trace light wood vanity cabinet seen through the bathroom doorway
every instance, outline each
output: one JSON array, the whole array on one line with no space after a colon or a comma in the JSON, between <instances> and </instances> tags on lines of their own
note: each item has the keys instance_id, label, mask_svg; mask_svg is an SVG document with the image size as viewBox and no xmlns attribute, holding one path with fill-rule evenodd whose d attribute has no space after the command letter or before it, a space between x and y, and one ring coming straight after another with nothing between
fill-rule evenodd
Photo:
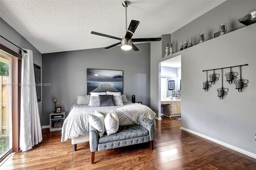
<instances>
[{"instance_id":1,"label":"light wood vanity cabinet seen through the bathroom doorway","mask_svg":"<svg viewBox=\"0 0 256 170\"><path fill-rule=\"evenodd\" d=\"M181 113L181 101L161 101L164 107L164 116L172 117Z\"/></svg>"}]
</instances>

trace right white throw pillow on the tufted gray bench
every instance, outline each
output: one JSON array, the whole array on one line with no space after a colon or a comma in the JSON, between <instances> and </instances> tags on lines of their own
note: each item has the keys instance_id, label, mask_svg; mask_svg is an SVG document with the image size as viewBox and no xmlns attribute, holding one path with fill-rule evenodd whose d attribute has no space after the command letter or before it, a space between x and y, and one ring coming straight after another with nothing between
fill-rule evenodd
<instances>
[{"instance_id":1,"label":"right white throw pillow on the tufted gray bench","mask_svg":"<svg viewBox=\"0 0 256 170\"><path fill-rule=\"evenodd\" d=\"M104 119L105 131L108 135L114 134L119 128L119 120L116 113L111 110Z\"/></svg>"}]
</instances>

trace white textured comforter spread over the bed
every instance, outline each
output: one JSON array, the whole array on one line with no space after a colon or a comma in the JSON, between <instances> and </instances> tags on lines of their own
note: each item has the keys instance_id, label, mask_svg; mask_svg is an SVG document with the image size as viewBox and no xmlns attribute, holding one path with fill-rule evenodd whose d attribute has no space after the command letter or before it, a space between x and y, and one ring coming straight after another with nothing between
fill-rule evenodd
<instances>
[{"instance_id":1,"label":"white textured comforter spread over the bed","mask_svg":"<svg viewBox=\"0 0 256 170\"><path fill-rule=\"evenodd\" d=\"M147 119L154 121L155 127L154 116L156 113L149 107L138 103L128 102L124 103L123 106L107 107L75 105L63 123L61 141L64 142L70 138L76 138L79 135L85 136L89 133L88 115L97 110L105 116L112 109L118 116L120 126L139 124L140 119L146 117Z\"/></svg>"}]
</instances>

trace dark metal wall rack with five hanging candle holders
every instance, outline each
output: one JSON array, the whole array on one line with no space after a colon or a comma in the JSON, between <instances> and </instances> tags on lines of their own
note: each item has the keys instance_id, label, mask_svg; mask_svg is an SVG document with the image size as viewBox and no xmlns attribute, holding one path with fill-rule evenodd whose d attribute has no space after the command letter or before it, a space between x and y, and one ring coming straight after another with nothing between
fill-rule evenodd
<instances>
[{"instance_id":1,"label":"dark metal wall rack with five hanging candle holders","mask_svg":"<svg viewBox=\"0 0 256 170\"><path fill-rule=\"evenodd\" d=\"M248 65L248 64L244 64L244 65ZM234 81L234 83L236 84L236 88L238 89L238 92L242 91L243 87L247 87L249 81L247 79L242 79L242 66L244 65L236 65L236 66L232 66L232 67L240 67L240 79ZM223 87L223 69L226 68L230 68L230 72L226 73L226 81L228 81L229 84L232 84L233 79L237 79L238 76L238 72L233 72L232 71L232 67L223 67L223 68L218 68L221 69L221 79L222 79L222 87L218 88L218 97L220 97L220 99L223 99L224 95L228 95L228 88L224 88ZM206 71L206 81L203 83L203 89L204 91L208 91L208 87L212 87L211 85L214 84L215 80L218 80L218 77L220 77L220 74L216 74L215 70L218 69L209 69L209 70L203 70ZM213 74L209 75L210 81L208 81L208 71L213 70Z\"/></svg>"}]
</instances>

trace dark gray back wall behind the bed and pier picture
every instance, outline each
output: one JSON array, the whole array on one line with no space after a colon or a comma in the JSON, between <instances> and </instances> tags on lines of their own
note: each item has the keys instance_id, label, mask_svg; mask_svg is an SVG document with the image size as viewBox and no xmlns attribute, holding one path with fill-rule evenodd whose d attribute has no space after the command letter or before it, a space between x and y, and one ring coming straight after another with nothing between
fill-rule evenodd
<instances>
[{"instance_id":1,"label":"dark gray back wall behind the bed and pier picture","mask_svg":"<svg viewBox=\"0 0 256 170\"><path fill-rule=\"evenodd\" d=\"M140 51L124 51L120 46L111 49L85 49L48 53L42 55L43 125L49 125L49 114L56 105L68 111L76 103L78 95L86 95L86 69L110 69L124 71L123 93L131 101L142 101L150 106L150 43L136 44Z\"/></svg>"}]
</instances>

